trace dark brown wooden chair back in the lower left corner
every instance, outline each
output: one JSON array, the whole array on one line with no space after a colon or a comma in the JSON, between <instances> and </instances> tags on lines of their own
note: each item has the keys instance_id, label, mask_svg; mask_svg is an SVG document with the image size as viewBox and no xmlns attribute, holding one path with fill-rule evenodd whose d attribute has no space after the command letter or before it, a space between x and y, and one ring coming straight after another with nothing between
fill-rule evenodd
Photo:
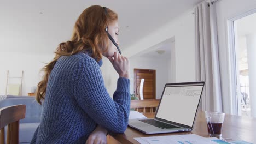
<instances>
[{"instance_id":1,"label":"dark brown wooden chair back in the lower left corner","mask_svg":"<svg viewBox=\"0 0 256 144\"><path fill-rule=\"evenodd\" d=\"M7 144L19 143L19 120L25 118L26 105L13 105L0 109L0 144L4 144L4 127L7 127Z\"/></svg>"}]
</instances>

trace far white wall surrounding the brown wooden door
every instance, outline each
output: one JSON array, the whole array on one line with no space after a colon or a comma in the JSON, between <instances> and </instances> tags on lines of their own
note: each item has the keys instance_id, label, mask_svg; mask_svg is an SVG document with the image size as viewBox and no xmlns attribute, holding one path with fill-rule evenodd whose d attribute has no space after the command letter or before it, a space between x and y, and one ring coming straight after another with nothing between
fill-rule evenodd
<instances>
[{"instance_id":1,"label":"far white wall surrounding the brown wooden door","mask_svg":"<svg viewBox=\"0 0 256 144\"><path fill-rule=\"evenodd\" d=\"M133 94L134 69L156 70L156 99L160 99L165 83L168 83L168 61L161 58L131 57L130 58L130 81L131 93Z\"/></svg>"}]
</instances>

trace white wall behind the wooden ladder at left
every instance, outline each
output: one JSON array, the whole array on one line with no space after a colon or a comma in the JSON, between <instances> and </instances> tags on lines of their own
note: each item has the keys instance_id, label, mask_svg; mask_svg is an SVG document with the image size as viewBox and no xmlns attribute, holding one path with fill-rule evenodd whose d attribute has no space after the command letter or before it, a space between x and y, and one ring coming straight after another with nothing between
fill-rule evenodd
<instances>
[{"instance_id":1,"label":"white wall behind the wooden ladder at left","mask_svg":"<svg viewBox=\"0 0 256 144\"><path fill-rule=\"evenodd\" d=\"M31 87L37 86L41 80L42 73L40 70L44 67L44 63L48 63L53 59L54 55L38 55L34 53L0 53L0 95L5 95L5 87L7 80L7 70L9 76L21 76L24 70L24 80L22 82L22 95L31 92ZM18 82L18 80L11 80Z\"/></svg>"}]
</instances>

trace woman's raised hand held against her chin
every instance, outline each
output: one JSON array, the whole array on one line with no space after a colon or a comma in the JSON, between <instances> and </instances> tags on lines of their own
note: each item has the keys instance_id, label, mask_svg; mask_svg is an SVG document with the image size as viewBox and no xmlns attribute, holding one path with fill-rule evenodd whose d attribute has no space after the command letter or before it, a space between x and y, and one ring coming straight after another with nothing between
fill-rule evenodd
<instances>
[{"instance_id":1,"label":"woman's raised hand held against her chin","mask_svg":"<svg viewBox=\"0 0 256 144\"><path fill-rule=\"evenodd\" d=\"M112 63L114 69L119 74L119 77L129 78L129 60L128 58L121 56L119 53L114 52L114 56L108 57Z\"/></svg>"}]
</instances>

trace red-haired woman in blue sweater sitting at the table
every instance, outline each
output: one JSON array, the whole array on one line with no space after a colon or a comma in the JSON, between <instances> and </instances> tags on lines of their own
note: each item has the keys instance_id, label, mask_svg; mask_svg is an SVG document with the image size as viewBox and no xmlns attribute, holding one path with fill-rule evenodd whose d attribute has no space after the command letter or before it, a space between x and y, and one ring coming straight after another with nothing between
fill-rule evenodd
<instances>
[{"instance_id":1,"label":"red-haired woman in blue sweater sitting at the table","mask_svg":"<svg viewBox=\"0 0 256 144\"><path fill-rule=\"evenodd\" d=\"M70 41L61 43L44 67L37 101L43 112L31 143L106 143L107 131L123 133L130 111L129 61L117 53L118 15L93 5L75 22ZM100 66L107 57L119 74L113 99ZM87 141L86 141L87 140Z\"/></svg>"}]
</instances>

